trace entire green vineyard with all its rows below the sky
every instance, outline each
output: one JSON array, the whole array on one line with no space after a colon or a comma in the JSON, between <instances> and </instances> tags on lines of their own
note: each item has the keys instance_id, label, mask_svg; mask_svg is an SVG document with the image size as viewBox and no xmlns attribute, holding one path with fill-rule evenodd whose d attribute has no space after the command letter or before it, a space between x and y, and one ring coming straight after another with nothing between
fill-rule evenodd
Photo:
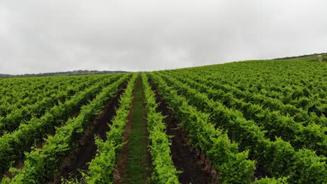
<instances>
[{"instance_id":1,"label":"entire green vineyard with all its rows below the sky","mask_svg":"<svg viewBox=\"0 0 327 184\"><path fill-rule=\"evenodd\" d=\"M1 183L327 183L315 59L0 79Z\"/></svg>"}]
</instances>

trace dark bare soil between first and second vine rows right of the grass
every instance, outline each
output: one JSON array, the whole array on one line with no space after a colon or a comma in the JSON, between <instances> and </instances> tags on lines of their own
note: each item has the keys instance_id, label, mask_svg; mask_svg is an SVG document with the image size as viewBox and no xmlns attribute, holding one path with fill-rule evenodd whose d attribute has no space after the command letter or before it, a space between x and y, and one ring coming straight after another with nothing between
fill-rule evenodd
<instances>
[{"instance_id":1,"label":"dark bare soil between first and second vine rows right of the grass","mask_svg":"<svg viewBox=\"0 0 327 184\"><path fill-rule=\"evenodd\" d=\"M187 136L178 127L178 121L173 117L173 112L168 109L167 103L163 100L155 86L150 80L152 90L156 93L158 112L166 116L164 122L167 126L167 135L172 136L171 153L177 170L182 171L178 176L180 183L219 183L215 181L215 171L210 171L211 165L205 160L205 155L198 158L199 151L191 151L191 145ZM204 164L203 164L204 163Z\"/></svg>"}]
</instances>

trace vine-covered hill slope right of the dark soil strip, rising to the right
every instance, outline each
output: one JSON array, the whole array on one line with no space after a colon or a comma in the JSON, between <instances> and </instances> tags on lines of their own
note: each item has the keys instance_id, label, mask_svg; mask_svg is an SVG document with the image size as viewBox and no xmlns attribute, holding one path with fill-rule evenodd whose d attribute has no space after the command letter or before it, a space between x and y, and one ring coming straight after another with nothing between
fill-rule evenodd
<instances>
[{"instance_id":1,"label":"vine-covered hill slope right of the dark soil strip, rising to the right","mask_svg":"<svg viewBox=\"0 0 327 184\"><path fill-rule=\"evenodd\" d=\"M221 183L327 182L327 63L317 56L149 75Z\"/></svg>"}]
</instances>

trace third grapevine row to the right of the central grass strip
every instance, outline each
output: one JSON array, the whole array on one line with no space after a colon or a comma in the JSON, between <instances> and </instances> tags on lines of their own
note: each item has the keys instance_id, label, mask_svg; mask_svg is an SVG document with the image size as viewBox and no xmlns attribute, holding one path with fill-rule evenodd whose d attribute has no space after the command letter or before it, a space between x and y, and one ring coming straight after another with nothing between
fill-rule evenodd
<instances>
[{"instance_id":1,"label":"third grapevine row to the right of the central grass strip","mask_svg":"<svg viewBox=\"0 0 327 184\"><path fill-rule=\"evenodd\" d=\"M174 87L184 95L189 94L189 101L196 107L210 113L214 117L212 124L228 130L229 137L238 141L242 150L249 148L250 158L272 176L278 178L286 174L292 182L326 182L326 158L319 158L306 149L295 151L291 144L279 138L270 141L264 138L259 127L245 120L239 112L209 100L205 94L189 89L180 82L175 81Z\"/></svg>"}]
</instances>

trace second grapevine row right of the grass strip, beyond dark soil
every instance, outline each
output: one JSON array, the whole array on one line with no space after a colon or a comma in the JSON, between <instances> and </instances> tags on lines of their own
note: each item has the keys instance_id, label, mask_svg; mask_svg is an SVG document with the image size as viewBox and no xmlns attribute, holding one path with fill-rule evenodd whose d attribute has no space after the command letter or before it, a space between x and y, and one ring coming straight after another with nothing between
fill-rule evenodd
<instances>
[{"instance_id":1,"label":"second grapevine row right of the grass strip, beyond dark soil","mask_svg":"<svg viewBox=\"0 0 327 184\"><path fill-rule=\"evenodd\" d=\"M238 144L231 143L224 132L208 123L208 114L198 112L188 105L185 98L177 95L177 91L157 75L149 73L149 76L168 106L173 109L182 128L188 132L192 144L212 161L221 183L252 183L255 162L248 160L248 151L239 153Z\"/></svg>"}]
</instances>

